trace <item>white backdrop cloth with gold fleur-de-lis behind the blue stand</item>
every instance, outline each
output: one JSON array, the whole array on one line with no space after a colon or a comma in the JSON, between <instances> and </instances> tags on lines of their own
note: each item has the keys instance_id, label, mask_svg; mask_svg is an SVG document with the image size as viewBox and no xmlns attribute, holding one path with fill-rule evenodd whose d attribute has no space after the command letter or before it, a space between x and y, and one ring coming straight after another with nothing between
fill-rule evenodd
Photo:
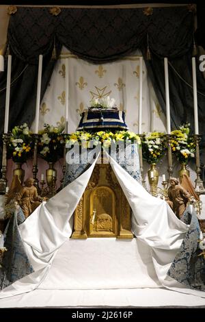
<instances>
[{"instance_id":1,"label":"white backdrop cloth with gold fleur-de-lis behind the blue stand","mask_svg":"<svg viewBox=\"0 0 205 322\"><path fill-rule=\"evenodd\" d=\"M113 97L120 110L126 112L126 123L138 132L139 111L139 56L133 55L107 64L92 64L77 58L65 47L53 71L51 82L40 106L40 129L44 123L64 124L66 106L66 58L68 58L69 88L68 133L74 132L80 113L96 97ZM142 131L165 131L165 116L154 95L143 62ZM35 121L32 129L34 129Z\"/></svg>"}]
</instances>

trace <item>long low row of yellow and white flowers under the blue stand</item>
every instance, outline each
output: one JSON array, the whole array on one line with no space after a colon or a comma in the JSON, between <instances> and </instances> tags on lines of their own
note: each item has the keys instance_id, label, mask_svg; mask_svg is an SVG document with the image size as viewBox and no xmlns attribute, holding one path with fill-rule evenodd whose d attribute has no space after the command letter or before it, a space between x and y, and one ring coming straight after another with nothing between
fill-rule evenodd
<instances>
[{"instance_id":1,"label":"long low row of yellow and white flowers under the blue stand","mask_svg":"<svg viewBox=\"0 0 205 322\"><path fill-rule=\"evenodd\" d=\"M103 145L104 147L109 147L112 142L126 142L127 140L131 141L131 143L137 141L137 144L141 144L139 136L130 131L116 131L115 133L109 131L99 131L96 133L77 131L68 135L68 137L66 138L66 143L68 143L69 145L78 143L83 148L89 148L98 144Z\"/></svg>"}]
</instances>

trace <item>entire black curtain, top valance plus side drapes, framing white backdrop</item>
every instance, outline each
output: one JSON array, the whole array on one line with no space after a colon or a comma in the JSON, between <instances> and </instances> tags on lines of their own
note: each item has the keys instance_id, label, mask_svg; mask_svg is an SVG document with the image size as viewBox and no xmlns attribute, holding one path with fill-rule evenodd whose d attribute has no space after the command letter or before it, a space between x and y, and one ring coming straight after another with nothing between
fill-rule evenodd
<instances>
[{"instance_id":1,"label":"entire black curtain, top valance plus side drapes, framing white backdrop","mask_svg":"<svg viewBox=\"0 0 205 322\"><path fill-rule=\"evenodd\" d=\"M9 128L25 121L31 125L36 107L38 55L44 56L42 97L55 66L55 61L51 60L54 45L57 55L64 45L80 58L96 64L117 60L140 49L164 112L163 58L167 57L170 63L172 127L185 121L191 121L193 124L191 54L194 12L192 9L190 5L146 10L61 8L59 14L55 16L50 13L49 8L18 8L17 12L10 16L8 27L8 43L13 60L12 82L14 82L11 87ZM151 60L146 60L148 46ZM5 90L2 88L5 87L5 83L6 72L0 75L1 133L5 110ZM205 91L204 79L199 69L197 83L202 92L202 95L198 95L200 133L202 133Z\"/></svg>"}]
</instances>

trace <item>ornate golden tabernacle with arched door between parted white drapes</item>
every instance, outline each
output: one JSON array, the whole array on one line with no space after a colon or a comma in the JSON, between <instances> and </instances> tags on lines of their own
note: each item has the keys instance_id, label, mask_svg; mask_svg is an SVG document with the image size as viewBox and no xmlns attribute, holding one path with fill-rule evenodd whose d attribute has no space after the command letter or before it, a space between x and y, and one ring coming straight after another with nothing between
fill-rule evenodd
<instances>
[{"instance_id":1,"label":"ornate golden tabernacle with arched door between parted white drapes","mask_svg":"<svg viewBox=\"0 0 205 322\"><path fill-rule=\"evenodd\" d=\"M96 164L74 212L71 238L133 238L131 207L110 164Z\"/></svg>"}]
</instances>

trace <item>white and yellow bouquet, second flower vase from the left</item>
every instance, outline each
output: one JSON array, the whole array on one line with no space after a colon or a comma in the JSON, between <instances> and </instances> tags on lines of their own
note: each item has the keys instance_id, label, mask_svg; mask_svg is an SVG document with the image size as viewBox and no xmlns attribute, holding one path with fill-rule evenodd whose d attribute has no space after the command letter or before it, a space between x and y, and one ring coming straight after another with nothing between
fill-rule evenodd
<instances>
[{"instance_id":1,"label":"white and yellow bouquet, second flower vase from the left","mask_svg":"<svg viewBox=\"0 0 205 322\"><path fill-rule=\"evenodd\" d=\"M47 162L56 162L63 155L64 127L54 127L44 124L44 129L39 131L38 154Z\"/></svg>"}]
</instances>

